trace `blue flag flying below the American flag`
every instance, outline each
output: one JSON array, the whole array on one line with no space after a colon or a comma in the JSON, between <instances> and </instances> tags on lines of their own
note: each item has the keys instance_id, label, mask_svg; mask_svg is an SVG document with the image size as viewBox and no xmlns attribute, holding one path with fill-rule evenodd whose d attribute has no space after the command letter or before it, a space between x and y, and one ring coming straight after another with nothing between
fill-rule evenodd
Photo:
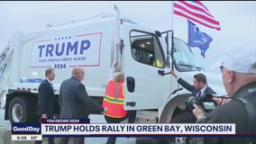
<instances>
[{"instance_id":1,"label":"blue flag flying below the American flag","mask_svg":"<svg viewBox=\"0 0 256 144\"><path fill-rule=\"evenodd\" d=\"M198 47L201 55L206 58L206 50L209 48L210 42L213 40L206 32L202 32L194 23L188 22L188 45L190 47Z\"/></svg>"}]
</instances>

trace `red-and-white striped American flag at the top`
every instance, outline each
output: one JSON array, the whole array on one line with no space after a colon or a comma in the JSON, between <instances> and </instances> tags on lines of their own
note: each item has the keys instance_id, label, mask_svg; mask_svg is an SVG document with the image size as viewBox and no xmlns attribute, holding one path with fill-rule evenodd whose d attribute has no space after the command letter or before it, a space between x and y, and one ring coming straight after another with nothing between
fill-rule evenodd
<instances>
[{"instance_id":1,"label":"red-and-white striped American flag at the top","mask_svg":"<svg viewBox=\"0 0 256 144\"><path fill-rule=\"evenodd\" d=\"M199 1L175 1L173 13L190 21L200 23L208 28L220 31L220 23L210 14L204 4Z\"/></svg>"}]
</instances>

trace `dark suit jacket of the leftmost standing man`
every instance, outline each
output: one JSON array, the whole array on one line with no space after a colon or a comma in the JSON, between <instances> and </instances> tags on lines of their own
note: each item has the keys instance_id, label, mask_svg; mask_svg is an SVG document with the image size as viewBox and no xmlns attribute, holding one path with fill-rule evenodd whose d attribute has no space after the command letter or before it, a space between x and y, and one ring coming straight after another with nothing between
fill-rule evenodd
<instances>
[{"instance_id":1,"label":"dark suit jacket of the leftmost standing man","mask_svg":"<svg viewBox=\"0 0 256 144\"><path fill-rule=\"evenodd\" d=\"M47 114L47 117L53 118L55 112L56 98L54 91L47 79L44 79L38 88L38 114Z\"/></svg>"}]
</instances>

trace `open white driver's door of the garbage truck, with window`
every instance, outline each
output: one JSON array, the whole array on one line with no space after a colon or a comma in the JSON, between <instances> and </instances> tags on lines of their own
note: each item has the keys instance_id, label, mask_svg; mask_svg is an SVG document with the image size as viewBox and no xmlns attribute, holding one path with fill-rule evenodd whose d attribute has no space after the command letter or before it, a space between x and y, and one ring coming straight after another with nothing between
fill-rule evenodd
<instances>
[{"instance_id":1,"label":"open white driver's door of the garbage truck, with window","mask_svg":"<svg viewBox=\"0 0 256 144\"><path fill-rule=\"evenodd\" d=\"M124 108L158 109L170 94L170 77L163 49L156 35L144 31L126 31L123 40L122 69L125 76Z\"/></svg>"}]
</instances>

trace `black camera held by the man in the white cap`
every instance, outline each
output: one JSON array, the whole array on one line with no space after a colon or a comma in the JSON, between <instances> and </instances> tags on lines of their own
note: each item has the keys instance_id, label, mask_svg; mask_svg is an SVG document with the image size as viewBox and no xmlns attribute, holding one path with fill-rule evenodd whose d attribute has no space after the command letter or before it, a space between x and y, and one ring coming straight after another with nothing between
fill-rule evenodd
<instances>
[{"instance_id":1,"label":"black camera held by the man in the white cap","mask_svg":"<svg viewBox=\"0 0 256 144\"><path fill-rule=\"evenodd\" d=\"M189 111L194 109L194 103L200 106L206 113L211 112L216 107L216 102L213 99L213 94L203 94L201 96L190 96L187 99L187 108Z\"/></svg>"}]
</instances>

